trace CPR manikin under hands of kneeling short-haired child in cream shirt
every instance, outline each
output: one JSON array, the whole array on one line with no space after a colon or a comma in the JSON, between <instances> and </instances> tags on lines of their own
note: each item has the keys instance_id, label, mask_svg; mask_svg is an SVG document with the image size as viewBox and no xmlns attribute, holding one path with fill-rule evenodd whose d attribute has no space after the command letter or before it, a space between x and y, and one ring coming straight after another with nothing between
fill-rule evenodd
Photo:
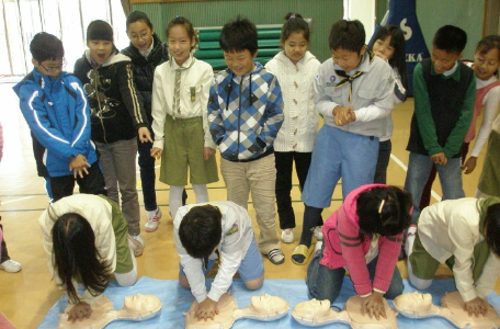
<instances>
[{"instance_id":1,"label":"CPR manikin under hands of kneeling short-haired child in cream shirt","mask_svg":"<svg viewBox=\"0 0 500 329\"><path fill-rule=\"evenodd\" d=\"M195 317L197 302L194 300L185 315L186 329L228 329L236 320L253 319L258 321L274 321L284 317L289 309L288 303L277 296L264 294L251 297L251 304L245 308L238 308L235 297L224 294L217 303L219 310L214 319L198 320Z\"/></svg>"}]
</instances>

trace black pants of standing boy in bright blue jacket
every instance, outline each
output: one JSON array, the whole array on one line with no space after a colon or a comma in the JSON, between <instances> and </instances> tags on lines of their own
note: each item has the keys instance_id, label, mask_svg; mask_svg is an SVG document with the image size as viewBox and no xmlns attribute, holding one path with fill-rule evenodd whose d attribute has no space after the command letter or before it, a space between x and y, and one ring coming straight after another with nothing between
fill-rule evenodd
<instances>
[{"instance_id":1,"label":"black pants of standing boy in bright blue jacket","mask_svg":"<svg viewBox=\"0 0 500 329\"><path fill-rule=\"evenodd\" d=\"M104 175L102 174L99 161L92 163L87 171L89 171L89 174L83 173L83 178L77 175L75 179L72 174L52 177L50 188L53 191L54 202L65 196L72 195L75 181L80 188L80 193L106 195Z\"/></svg>"}]
</instances>

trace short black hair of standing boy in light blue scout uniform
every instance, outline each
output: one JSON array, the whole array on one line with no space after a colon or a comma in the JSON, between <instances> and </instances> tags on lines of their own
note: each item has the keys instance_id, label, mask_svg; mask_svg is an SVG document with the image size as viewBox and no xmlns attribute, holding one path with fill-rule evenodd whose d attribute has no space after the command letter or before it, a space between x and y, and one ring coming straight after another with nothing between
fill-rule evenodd
<instances>
[{"instance_id":1,"label":"short black hair of standing boy in light blue scout uniform","mask_svg":"<svg viewBox=\"0 0 500 329\"><path fill-rule=\"evenodd\" d=\"M331 26L328 43L331 50L342 48L360 54L365 39L366 33L360 21L340 20Z\"/></svg>"}]
</instances>

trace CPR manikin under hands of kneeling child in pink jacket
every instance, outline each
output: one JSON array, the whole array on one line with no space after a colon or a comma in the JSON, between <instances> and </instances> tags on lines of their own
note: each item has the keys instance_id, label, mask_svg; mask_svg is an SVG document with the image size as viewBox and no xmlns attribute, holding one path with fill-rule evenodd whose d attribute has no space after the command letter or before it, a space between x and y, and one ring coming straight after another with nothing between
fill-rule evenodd
<instances>
[{"instance_id":1,"label":"CPR manikin under hands of kneeling child in pink jacket","mask_svg":"<svg viewBox=\"0 0 500 329\"><path fill-rule=\"evenodd\" d=\"M387 300L384 299L387 319L380 317L370 317L367 314L361 314L361 297L353 296L345 303L345 310L336 311L330 308L330 300L311 299L298 303L292 316L297 322L308 327L319 327L333 322L343 322L350 325L354 329L371 328L371 329L395 329L398 328L395 313Z\"/></svg>"}]
</instances>

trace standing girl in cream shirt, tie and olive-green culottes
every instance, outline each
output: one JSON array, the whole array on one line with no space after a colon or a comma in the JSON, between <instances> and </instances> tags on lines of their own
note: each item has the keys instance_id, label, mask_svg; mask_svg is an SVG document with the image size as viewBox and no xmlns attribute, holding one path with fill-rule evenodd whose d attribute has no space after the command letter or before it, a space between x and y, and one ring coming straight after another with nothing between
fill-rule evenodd
<instances>
[{"instance_id":1,"label":"standing girl in cream shirt, tie and olive-green culottes","mask_svg":"<svg viewBox=\"0 0 500 329\"><path fill-rule=\"evenodd\" d=\"M208 202L206 184L218 181L207 112L214 73L193 55L197 36L188 19L171 20L166 34L170 60L155 70L151 156L161 157L160 181L170 185L170 214L175 218L188 171L196 203Z\"/></svg>"}]
</instances>

